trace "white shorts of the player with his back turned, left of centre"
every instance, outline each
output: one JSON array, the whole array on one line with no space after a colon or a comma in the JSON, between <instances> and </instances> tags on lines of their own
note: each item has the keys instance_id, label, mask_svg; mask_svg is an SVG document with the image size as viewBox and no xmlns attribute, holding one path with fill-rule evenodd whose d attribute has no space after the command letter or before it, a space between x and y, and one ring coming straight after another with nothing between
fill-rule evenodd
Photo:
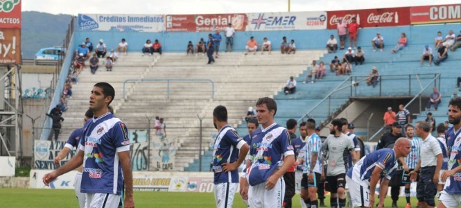
<instances>
[{"instance_id":1,"label":"white shorts of the player with his back turned, left of centre","mask_svg":"<svg viewBox=\"0 0 461 208\"><path fill-rule=\"evenodd\" d=\"M234 202L234 195L238 183L220 183L214 185L214 200L216 208L230 208Z\"/></svg>"}]
</instances>

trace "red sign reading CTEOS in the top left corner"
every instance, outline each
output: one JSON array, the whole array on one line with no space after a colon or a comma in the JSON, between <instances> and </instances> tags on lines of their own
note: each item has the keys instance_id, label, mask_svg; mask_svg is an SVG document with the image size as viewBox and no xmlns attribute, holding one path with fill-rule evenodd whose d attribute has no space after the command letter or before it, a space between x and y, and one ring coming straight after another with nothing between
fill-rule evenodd
<instances>
[{"instance_id":1,"label":"red sign reading CTEOS in the top left corner","mask_svg":"<svg viewBox=\"0 0 461 208\"><path fill-rule=\"evenodd\" d=\"M21 28L21 0L0 1L0 28Z\"/></svg>"}]
</instances>

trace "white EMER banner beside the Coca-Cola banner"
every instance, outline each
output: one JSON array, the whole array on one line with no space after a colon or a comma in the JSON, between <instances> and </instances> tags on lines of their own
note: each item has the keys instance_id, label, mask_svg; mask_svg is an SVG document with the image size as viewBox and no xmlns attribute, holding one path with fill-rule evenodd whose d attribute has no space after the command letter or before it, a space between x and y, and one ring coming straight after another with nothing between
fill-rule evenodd
<instances>
[{"instance_id":1,"label":"white EMER banner beside the Coca-Cola banner","mask_svg":"<svg viewBox=\"0 0 461 208\"><path fill-rule=\"evenodd\" d=\"M247 15L247 31L298 31L327 28L327 12L268 12Z\"/></svg>"}]
</instances>

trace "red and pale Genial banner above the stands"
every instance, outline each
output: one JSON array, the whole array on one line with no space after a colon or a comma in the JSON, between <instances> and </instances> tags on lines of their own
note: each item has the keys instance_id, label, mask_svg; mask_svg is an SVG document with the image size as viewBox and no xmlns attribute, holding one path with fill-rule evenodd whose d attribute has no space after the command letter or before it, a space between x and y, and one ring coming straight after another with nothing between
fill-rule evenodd
<instances>
[{"instance_id":1,"label":"red and pale Genial banner above the stands","mask_svg":"<svg viewBox=\"0 0 461 208\"><path fill-rule=\"evenodd\" d=\"M171 32L223 31L229 23L236 31L245 31L247 15L166 15L166 31Z\"/></svg>"}]
</instances>

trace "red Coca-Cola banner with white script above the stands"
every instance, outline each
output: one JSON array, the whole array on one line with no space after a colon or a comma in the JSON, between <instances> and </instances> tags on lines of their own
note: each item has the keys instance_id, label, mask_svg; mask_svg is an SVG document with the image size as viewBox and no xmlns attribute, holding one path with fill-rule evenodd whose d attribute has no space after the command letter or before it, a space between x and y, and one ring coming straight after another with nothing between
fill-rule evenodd
<instances>
[{"instance_id":1,"label":"red Coca-Cola banner with white script above the stands","mask_svg":"<svg viewBox=\"0 0 461 208\"><path fill-rule=\"evenodd\" d=\"M356 17L361 27L369 28L376 26L404 26L410 25L410 8L382 8L371 10L344 10L327 12L329 29L335 29L338 19L341 18L346 24L351 23L352 17Z\"/></svg>"}]
</instances>

